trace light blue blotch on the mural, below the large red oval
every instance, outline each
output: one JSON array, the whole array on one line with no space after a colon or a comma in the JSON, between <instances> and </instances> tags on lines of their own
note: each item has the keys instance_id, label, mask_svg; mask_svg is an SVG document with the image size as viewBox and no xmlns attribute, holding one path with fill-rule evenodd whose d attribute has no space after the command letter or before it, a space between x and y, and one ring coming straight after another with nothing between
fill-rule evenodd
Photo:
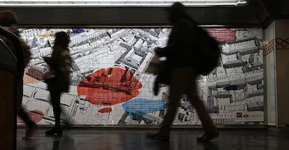
<instances>
[{"instance_id":1,"label":"light blue blotch on the mural, below the large red oval","mask_svg":"<svg viewBox=\"0 0 289 150\"><path fill-rule=\"evenodd\" d=\"M129 113L131 119L133 114L142 116L151 112L157 112L165 108L163 100L149 100L145 98L133 98L122 105L124 110Z\"/></svg>"}]
</instances>

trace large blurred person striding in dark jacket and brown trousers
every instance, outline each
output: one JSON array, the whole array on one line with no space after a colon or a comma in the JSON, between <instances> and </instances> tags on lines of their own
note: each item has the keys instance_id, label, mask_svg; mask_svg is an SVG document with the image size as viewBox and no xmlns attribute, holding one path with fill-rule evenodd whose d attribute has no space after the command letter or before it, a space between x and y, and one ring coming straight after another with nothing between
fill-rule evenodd
<instances>
[{"instance_id":1,"label":"large blurred person striding in dark jacket and brown trousers","mask_svg":"<svg viewBox=\"0 0 289 150\"><path fill-rule=\"evenodd\" d=\"M197 94L196 66L198 56L195 54L194 43L198 37L195 32L196 22L186 13L184 5L179 2L173 3L168 8L168 19L172 23L172 31L166 47L157 48L155 53L158 57L167 58L167 70L169 90L168 110L161 122L160 127L154 134L147 135L147 138L154 140L169 140L170 127L177 114L179 99L186 94L198 112L205 134L198 137L198 141L208 141L218 137L218 130L209 116L203 101ZM200 58L202 59L202 58ZM156 83L158 84L158 83Z\"/></svg>"}]
</instances>

